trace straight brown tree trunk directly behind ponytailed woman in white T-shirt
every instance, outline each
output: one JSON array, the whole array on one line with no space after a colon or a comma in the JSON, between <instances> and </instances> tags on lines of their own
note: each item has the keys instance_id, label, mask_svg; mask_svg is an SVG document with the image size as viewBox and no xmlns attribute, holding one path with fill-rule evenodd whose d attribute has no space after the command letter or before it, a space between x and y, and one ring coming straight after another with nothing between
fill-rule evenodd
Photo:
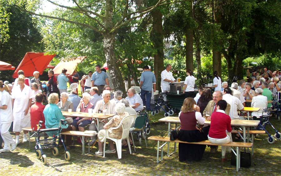
<instances>
[{"instance_id":1,"label":"straight brown tree trunk directly behind ponytailed woman in white T-shirt","mask_svg":"<svg viewBox=\"0 0 281 176\"><path fill-rule=\"evenodd\" d=\"M189 3L189 17L193 18L193 2ZM185 31L185 69L190 69L193 72L193 30Z\"/></svg>"}]
</instances>

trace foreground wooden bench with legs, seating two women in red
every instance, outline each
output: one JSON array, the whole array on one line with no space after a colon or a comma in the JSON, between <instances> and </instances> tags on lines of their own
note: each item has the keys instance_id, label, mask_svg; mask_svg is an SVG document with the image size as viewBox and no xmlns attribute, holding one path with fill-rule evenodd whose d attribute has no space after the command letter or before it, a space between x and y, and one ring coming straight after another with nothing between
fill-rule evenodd
<instances>
[{"instance_id":1,"label":"foreground wooden bench with legs, seating two women in red","mask_svg":"<svg viewBox=\"0 0 281 176\"><path fill-rule=\"evenodd\" d=\"M170 137L158 137L158 136L150 136L148 140L157 141L157 163L163 160L163 150L162 148L168 142L178 142L178 143L186 143L186 144L199 144L199 145L210 145L210 146L230 146L233 153L236 155L236 171L238 172L240 169L240 147L252 147L253 143L246 142L229 142L227 144L213 144L210 141L200 141L200 142L185 142L176 139L175 141L170 141ZM163 144L160 146L160 141ZM165 143L164 143L165 142ZM235 151L236 147L236 151ZM159 150L161 150L161 159L159 160Z\"/></svg>"}]
</instances>

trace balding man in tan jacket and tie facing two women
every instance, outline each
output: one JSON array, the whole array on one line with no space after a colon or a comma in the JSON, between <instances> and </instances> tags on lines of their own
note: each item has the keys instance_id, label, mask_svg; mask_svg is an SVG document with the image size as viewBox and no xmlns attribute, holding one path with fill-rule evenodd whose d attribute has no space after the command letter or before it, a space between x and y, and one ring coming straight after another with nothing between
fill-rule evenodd
<instances>
[{"instance_id":1,"label":"balding man in tan jacket and tie facing two women","mask_svg":"<svg viewBox=\"0 0 281 176\"><path fill-rule=\"evenodd\" d=\"M216 106L219 100L222 100L223 98L223 94L221 93L220 90L214 91L213 93L213 100L209 101L209 103L207 104L206 108L204 109L203 113L206 114L206 112L210 112L210 117L207 118L207 120L211 120L212 117L212 113L216 112ZM225 109L225 113L227 115L229 115L229 111L230 111L230 105L227 104L226 109ZM201 131L204 133L205 139L208 140L208 134L209 134L209 129L210 129L210 125L205 126L201 129ZM210 146L211 153L215 153L216 150L218 149L218 146Z\"/></svg>"}]
</instances>

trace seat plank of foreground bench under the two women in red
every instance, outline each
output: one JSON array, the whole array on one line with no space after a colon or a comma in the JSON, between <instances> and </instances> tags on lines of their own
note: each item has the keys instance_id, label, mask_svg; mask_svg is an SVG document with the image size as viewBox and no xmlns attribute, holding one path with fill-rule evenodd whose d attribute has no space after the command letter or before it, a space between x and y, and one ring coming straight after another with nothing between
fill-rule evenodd
<instances>
[{"instance_id":1,"label":"seat plank of foreground bench under the two women in red","mask_svg":"<svg viewBox=\"0 0 281 176\"><path fill-rule=\"evenodd\" d=\"M186 144L200 144L200 145L210 145L210 146L231 146L231 147L252 147L253 143L246 142L229 142L227 144L213 144L210 141L200 141L200 142L185 142L176 139L175 141L170 141L170 137L158 137L158 136L150 136L148 140L153 141L165 141L165 142L178 142L178 143L186 143Z\"/></svg>"}]
</instances>

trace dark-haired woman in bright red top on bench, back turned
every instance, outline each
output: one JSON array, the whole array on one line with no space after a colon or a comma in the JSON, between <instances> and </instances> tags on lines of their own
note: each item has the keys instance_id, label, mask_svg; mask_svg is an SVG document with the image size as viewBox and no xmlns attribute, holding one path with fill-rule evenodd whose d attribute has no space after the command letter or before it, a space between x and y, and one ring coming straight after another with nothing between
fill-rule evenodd
<instances>
[{"instance_id":1,"label":"dark-haired woman in bright red top on bench, back turned","mask_svg":"<svg viewBox=\"0 0 281 176\"><path fill-rule=\"evenodd\" d=\"M225 114L227 103L225 100L219 100L217 111L211 115L211 126L209 130L209 141L213 144L227 144L231 140L231 118ZM221 146L221 161L225 159L226 146Z\"/></svg>"}]
</instances>

